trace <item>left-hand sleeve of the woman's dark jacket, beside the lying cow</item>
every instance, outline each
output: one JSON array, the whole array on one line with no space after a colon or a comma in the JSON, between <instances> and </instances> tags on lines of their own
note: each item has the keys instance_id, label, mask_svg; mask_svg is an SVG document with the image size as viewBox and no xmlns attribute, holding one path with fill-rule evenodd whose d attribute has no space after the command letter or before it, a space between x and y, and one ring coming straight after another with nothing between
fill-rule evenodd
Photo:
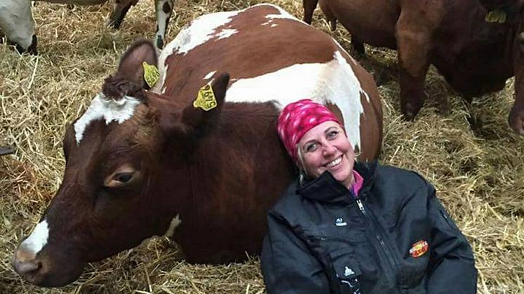
<instances>
[{"instance_id":1,"label":"left-hand sleeve of the woman's dark jacket, beside the lying cow","mask_svg":"<svg viewBox=\"0 0 524 294\"><path fill-rule=\"evenodd\" d=\"M261 267L268 294L329 293L320 262L279 215L268 215Z\"/></svg>"}]
</instances>

